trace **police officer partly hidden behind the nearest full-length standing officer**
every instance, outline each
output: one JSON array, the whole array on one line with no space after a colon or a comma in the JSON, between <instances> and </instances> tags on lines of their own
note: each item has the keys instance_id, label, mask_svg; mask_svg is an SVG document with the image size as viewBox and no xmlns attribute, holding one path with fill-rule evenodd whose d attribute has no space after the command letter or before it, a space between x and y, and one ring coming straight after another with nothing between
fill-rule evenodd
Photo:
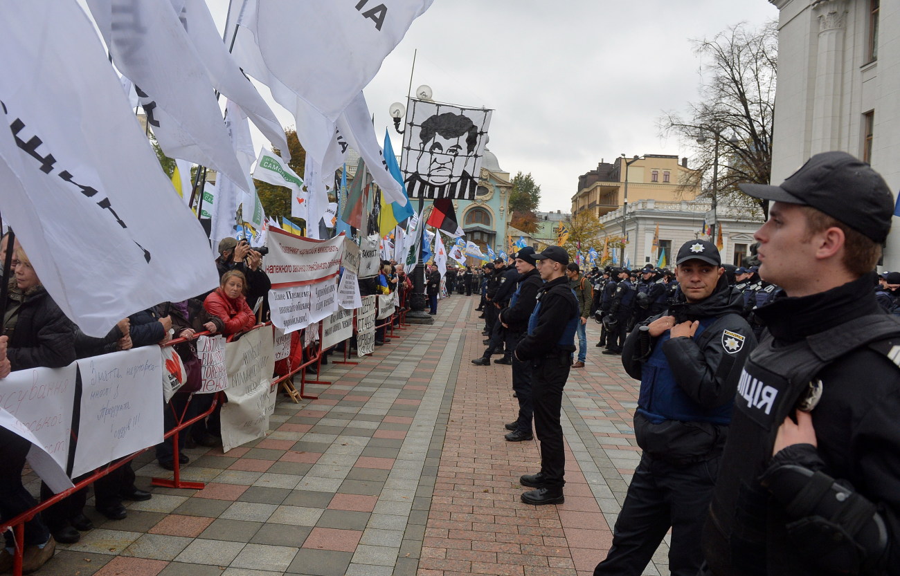
<instances>
[{"instance_id":1,"label":"police officer partly hidden behind the nearest full-length standing officer","mask_svg":"<svg viewBox=\"0 0 900 576\"><path fill-rule=\"evenodd\" d=\"M509 300L509 307L500 311L499 322L507 332L507 346L516 350L525 337L528 319L535 311L537 291L544 285L540 272L536 269L535 249L526 246L516 254L516 270L519 273L518 288ZM512 357L512 389L518 400L518 418L506 424L509 430L504 438L509 442L534 439L531 421L534 407L531 402L531 369L527 362Z\"/></svg>"}]
</instances>

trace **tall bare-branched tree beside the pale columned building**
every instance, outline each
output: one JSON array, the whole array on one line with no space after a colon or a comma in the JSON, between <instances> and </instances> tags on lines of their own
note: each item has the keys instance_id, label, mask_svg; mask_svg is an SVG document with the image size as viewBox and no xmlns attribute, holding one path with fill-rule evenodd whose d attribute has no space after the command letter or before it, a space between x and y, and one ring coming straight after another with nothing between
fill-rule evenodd
<instances>
[{"instance_id":1,"label":"tall bare-branched tree beside the pale columned building","mask_svg":"<svg viewBox=\"0 0 900 576\"><path fill-rule=\"evenodd\" d=\"M689 103L686 116L676 112L664 114L660 119L662 134L680 137L696 152L698 173L687 185L699 183L707 197L713 194L713 168L717 162L715 189L719 204L748 208L768 217L768 202L743 194L737 184L770 182L778 70L777 22L767 22L757 30L742 22L711 40L695 40L694 51L704 61L700 99ZM721 135L718 158L716 132Z\"/></svg>"}]
</instances>

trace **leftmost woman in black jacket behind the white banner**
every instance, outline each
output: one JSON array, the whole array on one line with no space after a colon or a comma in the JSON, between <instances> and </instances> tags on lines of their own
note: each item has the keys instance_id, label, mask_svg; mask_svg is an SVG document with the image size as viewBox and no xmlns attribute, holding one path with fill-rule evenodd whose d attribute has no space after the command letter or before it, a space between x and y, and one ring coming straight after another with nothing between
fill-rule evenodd
<instances>
[{"instance_id":1,"label":"leftmost woman in black jacket behind the white banner","mask_svg":"<svg viewBox=\"0 0 900 576\"><path fill-rule=\"evenodd\" d=\"M3 318L4 335L8 337L6 357L13 370L27 368L63 368L75 361L75 326L62 313L47 290L40 284L31 261L17 248L15 275L10 281L9 297ZM15 518L37 505L22 484L25 456L31 442L0 428L0 517ZM7 531L6 548L14 543ZM36 515L25 522L23 572L34 572L53 557L56 542L47 526ZM0 553L0 570L12 567L12 556Z\"/></svg>"}]
</instances>

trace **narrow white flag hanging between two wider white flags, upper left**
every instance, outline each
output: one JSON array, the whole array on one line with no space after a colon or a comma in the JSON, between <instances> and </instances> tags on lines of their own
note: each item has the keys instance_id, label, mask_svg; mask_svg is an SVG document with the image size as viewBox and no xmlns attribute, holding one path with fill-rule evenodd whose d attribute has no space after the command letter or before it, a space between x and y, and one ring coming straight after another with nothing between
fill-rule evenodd
<instances>
[{"instance_id":1,"label":"narrow white flag hanging between two wider white flags, upper left","mask_svg":"<svg viewBox=\"0 0 900 576\"><path fill-rule=\"evenodd\" d=\"M285 161L291 160L291 152L284 137L284 128L275 118L275 112L269 108L257 89L250 84L247 76L240 72L234 58L219 38L219 31L212 21L210 9L205 0L173 0L184 4L178 14L184 23L184 30L193 42L202 64L210 75L213 86L224 94L229 101L236 102L247 113L247 116L263 136L281 151Z\"/></svg>"}]
</instances>

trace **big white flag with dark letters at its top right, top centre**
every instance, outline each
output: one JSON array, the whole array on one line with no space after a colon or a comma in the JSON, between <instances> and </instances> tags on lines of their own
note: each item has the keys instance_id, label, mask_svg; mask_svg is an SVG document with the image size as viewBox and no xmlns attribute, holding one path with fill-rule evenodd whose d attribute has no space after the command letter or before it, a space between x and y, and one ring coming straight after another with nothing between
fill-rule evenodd
<instances>
[{"instance_id":1,"label":"big white flag with dark letters at its top right, top centre","mask_svg":"<svg viewBox=\"0 0 900 576\"><path fill-rule=\"evenodd\" d=\"M432 1L257 0L259 49L275 76L338 120Z\"/></svg>"}]
</instances>

